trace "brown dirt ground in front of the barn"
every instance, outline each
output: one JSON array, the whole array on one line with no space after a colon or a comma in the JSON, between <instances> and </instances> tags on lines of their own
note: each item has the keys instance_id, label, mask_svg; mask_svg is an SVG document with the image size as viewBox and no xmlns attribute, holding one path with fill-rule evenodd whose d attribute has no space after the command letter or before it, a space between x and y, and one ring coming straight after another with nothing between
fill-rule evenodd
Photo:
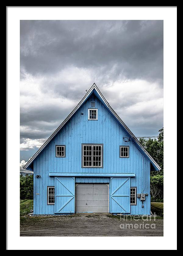
<instances>
[{"instance_id":1,"label":"brown dirt ground in front of the barn","mask_svg":"<svg viewBox=\"0 0 183 256\"><path fill-rule=\"evenodd\" d=\"M25 216L20 217L20 236L163 236L163 219L120 220L109 213Z\"/></svg>"}]
</instances>

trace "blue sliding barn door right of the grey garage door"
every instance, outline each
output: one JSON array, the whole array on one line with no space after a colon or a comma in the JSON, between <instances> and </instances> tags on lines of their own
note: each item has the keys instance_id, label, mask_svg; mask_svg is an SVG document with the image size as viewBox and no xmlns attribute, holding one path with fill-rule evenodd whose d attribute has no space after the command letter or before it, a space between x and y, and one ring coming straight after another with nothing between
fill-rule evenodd
<instances>
[{"instance_id":1,"label":"blue sliding barn door right of the grey garage door","mask_svg":"<svg viewBox=\"0 0 183 256\"><path fill-rule=\"evenodd\" d=\"M110 199L111 213L130 213L130 178L111 178Z\"/></svg>"}]
</instances>

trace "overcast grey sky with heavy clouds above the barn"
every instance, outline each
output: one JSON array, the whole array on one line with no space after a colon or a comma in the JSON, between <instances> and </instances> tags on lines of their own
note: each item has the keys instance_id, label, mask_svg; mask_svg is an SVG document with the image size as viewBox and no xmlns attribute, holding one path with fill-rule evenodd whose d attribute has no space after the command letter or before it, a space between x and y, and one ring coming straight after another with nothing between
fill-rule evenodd
<instances>
[{"instance_id":1,"label":"overcast grey sky with heavy clouds above the barn","mask_svg":"<svg viewBox=\"0 0 183 256\"><path fill-rule=\"evenodd\" d=\"M163 21L20 21L20 161L38 150L94 82L136 136L158 135Z\"/></svg>"}]
</instances>

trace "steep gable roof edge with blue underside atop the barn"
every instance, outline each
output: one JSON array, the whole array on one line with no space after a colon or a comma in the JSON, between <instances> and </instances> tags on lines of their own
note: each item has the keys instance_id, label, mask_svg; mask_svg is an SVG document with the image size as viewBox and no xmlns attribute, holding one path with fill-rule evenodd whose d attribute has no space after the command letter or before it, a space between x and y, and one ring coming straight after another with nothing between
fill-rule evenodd
<instances>
[{"instance_id":1,"label":"steep gable roof edge with blue underside atop the barn","mask_svg":"<svg viewBox=\"0 0 183 256\"><path fill-rule=\"evenodd\" d=\"M140 150L143 151L143 153L147 156L149 161L152 163L152 165L157 168L156 170L160 170L160 166L156 163L156 161L152 158L152 156L145 150L145 148L141 145L141 143L138 141L138 139L135 137L135 135L130 131L130 129L126 126L126 124L121 120L121 118L117 115L117 113L112 109L112 107L109 105L109 103L106 101L104 96L102 95L99 88L94 83L91 88L88 90L88 92L84 95L84 97L81 99L81 101L77 104L77 106L71 111L71 113L66 117L66 119L59 125L59 127L55 130L55 132L52 133L52 135L45 141L45 143L39 148L39 150L33 155L32 158L27 162L26 165L24 165L23 169L27 169L34 161L34 159L41 153L41 151L48 145L48 143L51 142L51 140L54 138L54 136L63 128L63 126L70 120L70 118L76 113L76 111L81 107L81 105L91 96L91 94L94 93L106 106L106 108L109 110L110 113L112 113L113 117L125 128L127 133L133 137L135 143L138 145Z\"/></svg>"}]
</instances>

